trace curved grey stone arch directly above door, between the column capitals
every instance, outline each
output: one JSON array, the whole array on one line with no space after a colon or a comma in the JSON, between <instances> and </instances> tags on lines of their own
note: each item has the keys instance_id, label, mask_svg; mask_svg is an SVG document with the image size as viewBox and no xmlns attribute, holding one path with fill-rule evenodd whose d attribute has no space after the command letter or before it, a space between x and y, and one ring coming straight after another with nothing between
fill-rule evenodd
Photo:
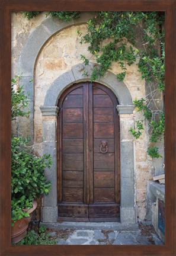
<instances>
[{"instance_id":1,"label":"curved grey stone arch directly above door, between the column capitals","mask_svg":"<svg viewBox=\"0 0 176 256\"><path fill-rule=\"evenodd\" d=\"M83 63L75 65L68 72L63 73L59 76L53 84L50 86L44 99L44 106L57 105L60 95L65 91L66 88L70 87L74 83L90 81L91 73L94 66L99 66L97 63L90 62L89 65L85 66ZM88 75L85 77L84 72ZM97 82L106 85L116 95L120 105L127 105L126 112L130 111L133 107L132 97L129 89L126 87L124 82L119 82L116 75L107 71L105 75L100 78ZM130 107L131 106L131 107ZM122 111L122 110L121 110Z\"/></svg>"}]
</instances>

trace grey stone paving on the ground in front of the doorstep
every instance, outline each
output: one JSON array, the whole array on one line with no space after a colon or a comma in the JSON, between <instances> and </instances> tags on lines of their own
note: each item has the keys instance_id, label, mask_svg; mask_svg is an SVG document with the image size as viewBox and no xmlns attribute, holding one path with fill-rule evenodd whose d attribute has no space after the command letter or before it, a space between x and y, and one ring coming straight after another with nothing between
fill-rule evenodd
<instances>
[{"instance_id":1,"label":"grey stone paving on the ground in front of the doorstep","mask_svg":"<svg viewBox=\"0 0 176 256\"><path fill-rule=\"evenodd\" d=\"M55 236L52 232L51 236ZM58 245L162 245L156 233L150 236L138 231L75 230L65 238L57 238Z\"/></svg>"}]
</instances>

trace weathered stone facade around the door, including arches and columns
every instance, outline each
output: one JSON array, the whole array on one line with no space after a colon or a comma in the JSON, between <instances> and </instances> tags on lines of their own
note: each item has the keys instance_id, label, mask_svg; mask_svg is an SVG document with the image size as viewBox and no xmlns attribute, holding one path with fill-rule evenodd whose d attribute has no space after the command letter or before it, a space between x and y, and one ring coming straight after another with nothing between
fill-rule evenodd
<instances>
[{"instance_id":1,"label":"weathered stone facade around the door, including arches and columns","mask_svg":"<svg viewBox=\"0 0 176 256\"><path fill-rule=\"evenodd\" d=\"M65 23L51 17L46 18L44 13L31 21L21 13L12 14L12 76L22 76L21 84L24 85L25 92L30 92L28 107L31 111L29 120L17 120L18 131L31 136L38 155L52 152L55 169L55 172L46 172L53 185L50 195L43 199L44 222L55 222L57 219L57 100L74 82L88 81L89 76L82 74L87 69L90 73L95 65L95 59L87 51L87 46L79 44L76 32L86 32L86 23L91 15L82 13L79 20ZM82 64L81 54L88 57L89 66ZM146 96L145 81L140 78L136 63L127 68L124 82L117 81L118 71L120 72L120 66L113 63L111 71L99 82L111 88L119 100L117 110L120 115L121 222L135 223L137 217L140 220L146 219L146 185L152 180L153 174L164 172L164 159L152 161L147 155L147 126L140 139L134 140L129 133L135 121L142 118L141 113L133 110L132 101ZM158 99L158 104L161 104L161 98ZM164 152L163 142L159 147Z\"/></svg>"}]
</instances>

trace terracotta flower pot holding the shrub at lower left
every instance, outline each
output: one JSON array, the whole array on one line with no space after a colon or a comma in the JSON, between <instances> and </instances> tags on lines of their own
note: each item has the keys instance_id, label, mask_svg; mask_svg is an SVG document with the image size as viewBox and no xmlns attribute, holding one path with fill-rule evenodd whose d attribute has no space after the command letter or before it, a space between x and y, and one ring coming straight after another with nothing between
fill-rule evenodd
<instances>
[{"instance_id":1,"label":"terracotta flower pot holding the shrub at lower left","mask_svg":"<svg viewBox=\"0 0 176 256\"><path fill-rule=\"evenodd\" d=\"M30 217L23 217L22 219L17 220L17 222L14 223L14 226L12 226L12 229L11 229L11 242L12 243L17 243L17 242L21 241L21 239L24 238L24 236L26 234L27 227L28 227L28 223L30 223L30 221L31 221L32 212L34 212L36 207L37 207L37 202L33 201L33 208L28 210Z\"/></svg>"}]
</instances>

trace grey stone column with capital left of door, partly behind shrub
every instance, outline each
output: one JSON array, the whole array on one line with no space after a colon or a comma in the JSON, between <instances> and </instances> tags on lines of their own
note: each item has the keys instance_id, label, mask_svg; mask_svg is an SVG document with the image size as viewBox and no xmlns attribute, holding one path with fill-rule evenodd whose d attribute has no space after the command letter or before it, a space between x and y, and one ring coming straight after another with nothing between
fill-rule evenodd
<instances>
[{"instance_id":1,"label":"grey stone column with capital left of door, partly behind shrub","mask_svg":"<svg viewBox=\"0 0 176 256\"><path fill-rule=\"evenodd\" d=\"M52 167L45 175L51 181L48 196L43 196L41 207L42 222L57 222L57 114L58 107L40 107L43 116L43 155L50 154Z\"/></svg>"}]
</instances>

